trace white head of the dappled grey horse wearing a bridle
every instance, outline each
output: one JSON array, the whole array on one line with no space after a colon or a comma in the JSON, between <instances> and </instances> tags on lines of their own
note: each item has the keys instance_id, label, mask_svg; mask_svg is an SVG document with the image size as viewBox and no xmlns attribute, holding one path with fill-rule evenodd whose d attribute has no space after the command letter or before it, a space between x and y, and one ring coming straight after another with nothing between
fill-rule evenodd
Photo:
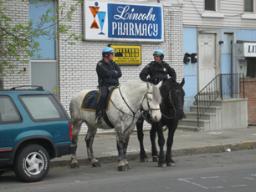
<instances>
[{"instance_id":1,"label":"white head of the dappled grey horse wearing a bridle","mask_svg":"<svg viewBox=\"0 0 256 192\"><path fill-rule=\"evenodd\" d=\"M147 83L146 93L142 101L142 109L151 115L151 120L154 122L161 120L161 93L156 85Z\"/></svg>"}]
</instances>

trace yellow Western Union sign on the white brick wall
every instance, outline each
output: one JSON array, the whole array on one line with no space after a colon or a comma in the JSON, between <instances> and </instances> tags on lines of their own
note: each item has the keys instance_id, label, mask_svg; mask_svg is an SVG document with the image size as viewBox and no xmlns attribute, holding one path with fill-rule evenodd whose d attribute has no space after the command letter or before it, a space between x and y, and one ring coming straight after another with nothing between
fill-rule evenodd
<instances>
[{"instance_id":1,"label":"yellow Western Union sign on the white brick wall","mask_svg":"<svg viewBox=\"0 0 256 192\"><path fill-rule=\"evenodd\" d=\"M141 64L141 46L136 45L111 45L115 50L115 63L119 65Z\"/></svg>"}]
</instances>

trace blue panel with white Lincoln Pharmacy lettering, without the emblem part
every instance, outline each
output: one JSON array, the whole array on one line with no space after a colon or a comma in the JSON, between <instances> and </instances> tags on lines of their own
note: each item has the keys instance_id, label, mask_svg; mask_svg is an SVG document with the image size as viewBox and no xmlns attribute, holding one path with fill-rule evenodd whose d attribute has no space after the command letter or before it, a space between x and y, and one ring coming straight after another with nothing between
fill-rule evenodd
<instances>
[{"instance_id":1,"label":"blue panel with white Lincoln Pharmacy lettering, without the emblem part","mask_svg":"<svg viewBox=\"0 0 256 192\"><path fill-rule=\"evenodd\" d=\"M161 40L162 8L108 3L108 38Z\"/></svg>"}]
</instances>

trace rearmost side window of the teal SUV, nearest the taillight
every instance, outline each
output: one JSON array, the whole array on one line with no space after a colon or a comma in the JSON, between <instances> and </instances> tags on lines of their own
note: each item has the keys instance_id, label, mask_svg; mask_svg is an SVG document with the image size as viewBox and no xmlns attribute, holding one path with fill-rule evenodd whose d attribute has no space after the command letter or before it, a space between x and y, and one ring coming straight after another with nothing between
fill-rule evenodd
<instances>
[{"instance_id":1,"label":"rearmost side window of the teal SUV, nearest the taillight","mask_svg":"<svg viewBox=\"0 0 256 192\"><path fill-rule=\"evenodd\" d=\"M21 100L30 117L37 120L64 119L64 113L52 95L26 95Z\"/></svg>"}]
</instances>

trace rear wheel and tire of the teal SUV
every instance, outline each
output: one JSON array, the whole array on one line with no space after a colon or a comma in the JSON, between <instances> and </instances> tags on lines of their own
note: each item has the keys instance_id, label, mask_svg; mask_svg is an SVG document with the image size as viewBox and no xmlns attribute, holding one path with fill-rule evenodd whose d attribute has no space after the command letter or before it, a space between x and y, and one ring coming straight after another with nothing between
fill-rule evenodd
<instances>
[{"instance_id":1,"label":"rear wheel and tire of the teal SUV","mask_svg":"<svg viewBox=\"0 0 256 192\"><path fill-rule=\"evenodd\" d=\"M50 166L49 153L39 144L29 144L19 149L13 169L19 179L35 182L44 179Z\"/></svg>"}]
</instances>

